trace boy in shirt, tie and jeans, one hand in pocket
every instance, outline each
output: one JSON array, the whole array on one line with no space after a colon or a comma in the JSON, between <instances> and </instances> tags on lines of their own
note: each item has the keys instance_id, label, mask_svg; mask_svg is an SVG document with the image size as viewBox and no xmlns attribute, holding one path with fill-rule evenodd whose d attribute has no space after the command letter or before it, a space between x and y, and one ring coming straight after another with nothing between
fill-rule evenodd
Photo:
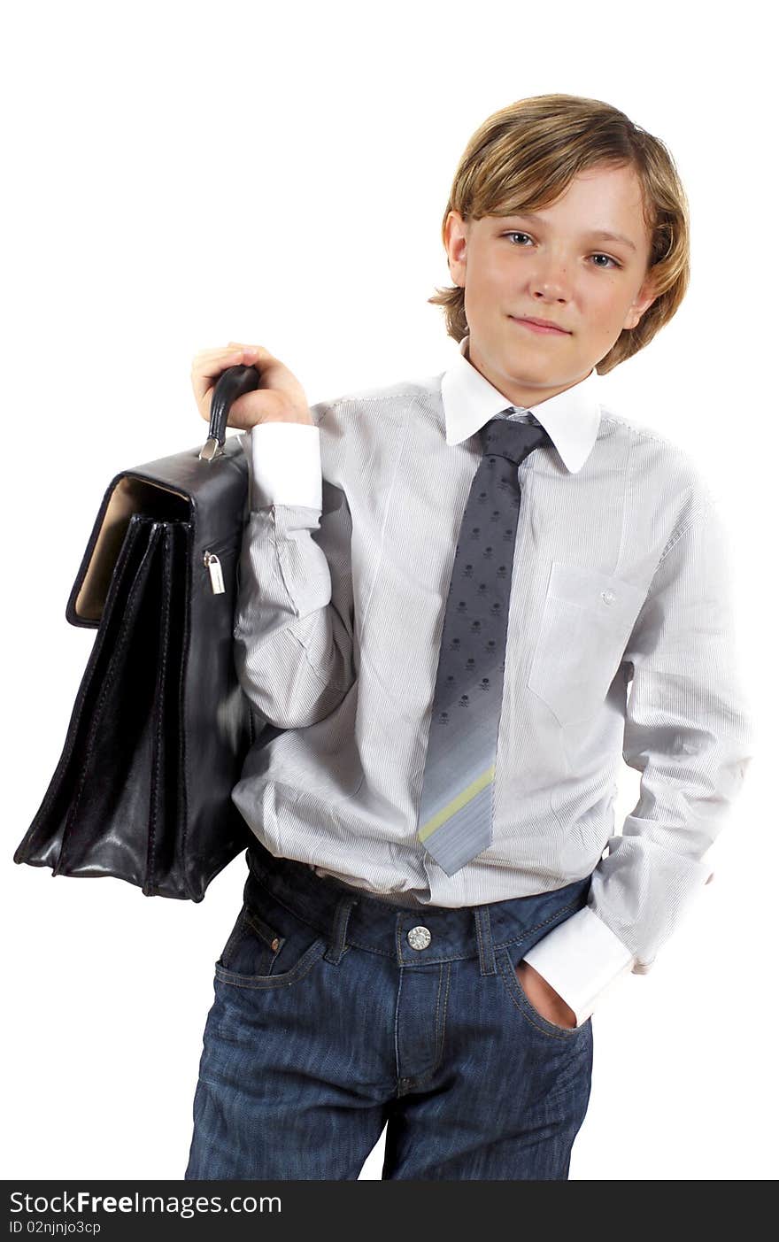
<instances>
[{"instance_id":1,"label":"boy in shirt, tie and jeans, one hand in pocket","mask_svg":"<svg viewBox=\"0 0 779 1242\"><path fill-rule=\"evenodd\" d=\"M384 1179L567 1179L590 1015L712 878L749 760L716 501L599 395L687 287L668 153L522 99L471 138L444 242L442 375L309 409L262 347L195 360L205 419L221 370L262 375L230 415L234 637L286 732L232 791L257 845L188 1179L354 1179L385 1123Z\"/></svg>"}]
</instances>

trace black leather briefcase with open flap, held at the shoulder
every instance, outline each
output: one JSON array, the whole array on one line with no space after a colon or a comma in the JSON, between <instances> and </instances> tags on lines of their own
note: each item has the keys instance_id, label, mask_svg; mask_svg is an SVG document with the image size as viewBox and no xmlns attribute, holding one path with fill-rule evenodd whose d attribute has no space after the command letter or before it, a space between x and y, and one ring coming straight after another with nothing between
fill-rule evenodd
<instances>
[{"instance_id":1,"label":"black leather briefcase with open flap, held at the shoulder","mask_svg":"<svg viewBox=\"0 0 779 1242\"><path fill-rule=\"evenodd\" d=\"M230 792L260 734L232 656L246 455L225 437L253 366L216 381L209 437L108 484L66 607L97 630L46 796L14 861L203 900L251 833Z\"/></svg>"}]
</instances>

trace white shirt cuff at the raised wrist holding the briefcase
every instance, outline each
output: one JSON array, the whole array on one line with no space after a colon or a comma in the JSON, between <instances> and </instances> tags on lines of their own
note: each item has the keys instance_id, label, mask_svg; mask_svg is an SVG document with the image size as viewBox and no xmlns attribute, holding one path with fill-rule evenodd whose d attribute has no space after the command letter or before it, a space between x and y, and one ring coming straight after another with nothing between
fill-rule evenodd
<instances>
[{"instance_id":1,"label":"white shirt cuff at the raised wrist holding the briefcase","mask_svg":"<svg viewBox=\"0 0 779 1242\"><path fill-rule=\"evenodd\" d=\"M248 440L248 443L246 442ZM304 504L322 509L319 428L306 422L258 422L245 436L251 509Z\"/></svg>"}]
</instances>

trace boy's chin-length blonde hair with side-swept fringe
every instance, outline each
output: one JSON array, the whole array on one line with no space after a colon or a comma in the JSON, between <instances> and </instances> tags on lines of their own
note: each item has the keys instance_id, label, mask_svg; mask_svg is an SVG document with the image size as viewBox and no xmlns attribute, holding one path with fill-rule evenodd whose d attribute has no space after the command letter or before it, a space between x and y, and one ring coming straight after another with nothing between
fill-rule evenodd
<instances>
[{"instance_id":1,"label":"boy's chin-length blonde hair with side-swept fringe","mask_svg":"<svg viewBox=\"0 0 779 1242\"><path fill-rule=\"evenodd\" d=\"M651 237L647 272L652 304L635 328L624 328L596 365L599 375L649 345L673 318L690 283L690 211L673 159L660 140L619 108L578 94L537 94L493 113L471 137L455 173L441 222L458 211L463 220L511 215L549 206L570 181L594 165L632 166L641 185L642 214ZM427 298L444 307L446 332L456 342L468 333L465 289L436 289Z\"/></svg>"}]
</instances>

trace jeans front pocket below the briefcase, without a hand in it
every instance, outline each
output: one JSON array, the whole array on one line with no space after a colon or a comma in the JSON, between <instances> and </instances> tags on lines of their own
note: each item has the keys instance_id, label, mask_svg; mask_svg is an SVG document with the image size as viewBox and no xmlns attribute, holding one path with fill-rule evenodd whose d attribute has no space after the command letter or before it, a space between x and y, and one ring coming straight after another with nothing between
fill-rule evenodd
<instances>
[{"instance_id":1,"label":"jeans front pocket below the briefcase, without a hand in it","mask_svg":"<svg viewBox=\"0 0 779 1242\"><path fill-rule=\"evenodd\" d=\"M252 881L214 971L234 987L283 987L303 979L326 951L316 928Z\"/></svg>"}]
</instances>

